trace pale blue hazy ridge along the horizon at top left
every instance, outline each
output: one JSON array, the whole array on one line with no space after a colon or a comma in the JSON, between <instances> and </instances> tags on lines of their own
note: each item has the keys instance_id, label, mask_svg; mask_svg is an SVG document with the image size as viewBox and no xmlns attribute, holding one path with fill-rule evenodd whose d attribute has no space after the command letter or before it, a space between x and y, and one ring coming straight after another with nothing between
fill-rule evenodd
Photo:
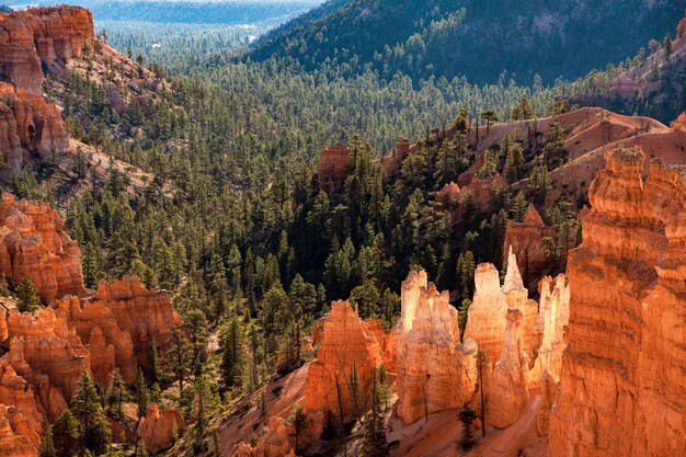
<instances>
[{"instance_id":1,"label":"pale blue hazy ridge along the horizon at top left","mask_svg":"<svg viewBox=\"0 0 686 457\"><path fill-rule=\"evenodd\" d=\"M34 3L22 0L12 4ZM64 0L35 3L61 4ZM320 0L71 0L68 3L85 7L99 21L147 21L192 24L245 24L274 18L287 20L317 4Z\"/></svg>"}]
</instances>

